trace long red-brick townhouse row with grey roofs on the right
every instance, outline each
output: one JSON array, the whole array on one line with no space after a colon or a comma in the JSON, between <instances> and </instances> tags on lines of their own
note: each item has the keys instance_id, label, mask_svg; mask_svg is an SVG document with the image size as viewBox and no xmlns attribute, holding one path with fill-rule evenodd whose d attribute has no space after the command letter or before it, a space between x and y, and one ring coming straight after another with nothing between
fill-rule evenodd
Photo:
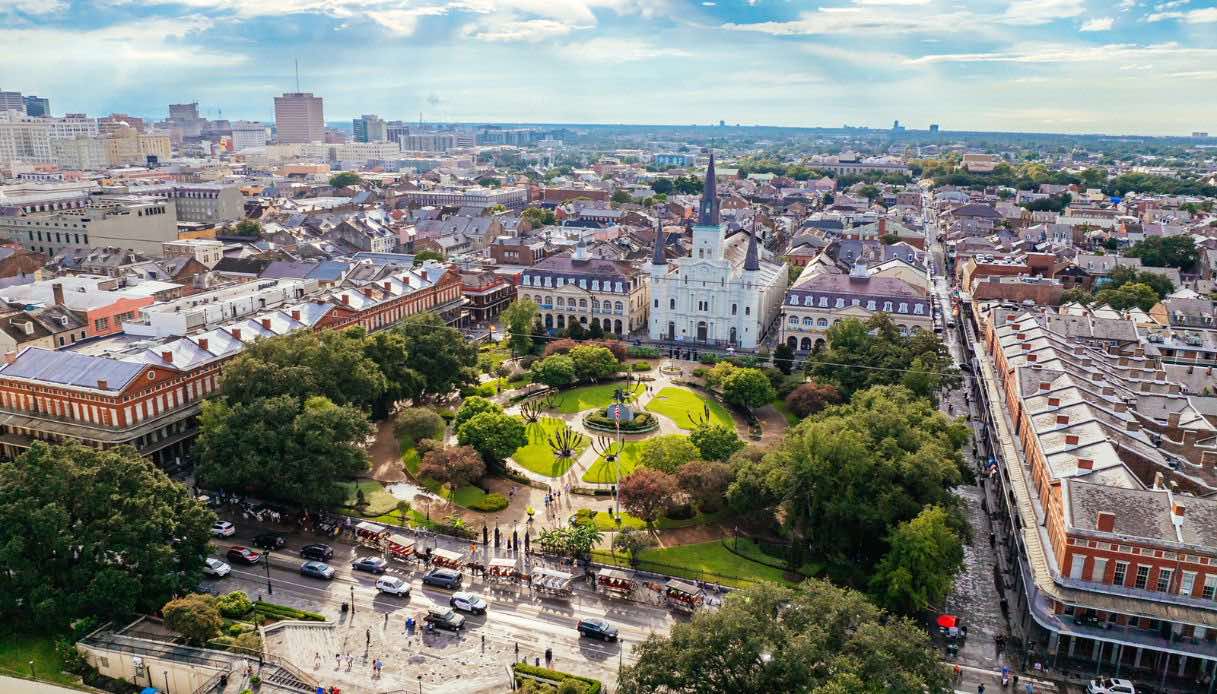
<instances>
[{"instance_id":1,"label":"long red-brick townhouse row with grey roofs on the right","mask_svg":"<svg viewBox=\"0 0 1217 694\"><path fill-rule=\"evenodd\" d=\"M1139 347L1020 308L977 320L1028 647L1117 676L1212 673L1217 430Z\"/></svg>"}]
</instances>

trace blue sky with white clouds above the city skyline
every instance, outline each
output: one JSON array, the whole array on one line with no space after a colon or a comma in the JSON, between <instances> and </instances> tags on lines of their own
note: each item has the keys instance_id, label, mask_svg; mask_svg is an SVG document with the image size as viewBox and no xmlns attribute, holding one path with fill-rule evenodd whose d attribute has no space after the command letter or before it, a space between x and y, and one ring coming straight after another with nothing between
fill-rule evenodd
<instances>
[{"instance_id":1,"label":"blue sky with white clouds above the city skyline","mask_svg":"<svg viewBox=\"0 0 1217 694\"><path fill-rule=\"evenodd\" d=\"M0 0L56 113L1217 133L1217 0Z\"/></svg>"}]
</instances>

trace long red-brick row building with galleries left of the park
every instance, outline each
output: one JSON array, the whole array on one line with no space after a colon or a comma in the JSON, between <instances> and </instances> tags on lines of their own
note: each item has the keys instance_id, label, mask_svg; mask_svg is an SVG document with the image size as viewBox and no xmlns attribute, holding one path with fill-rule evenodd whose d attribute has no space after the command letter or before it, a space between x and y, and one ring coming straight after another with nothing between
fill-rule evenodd
<instances>
[{"instance_id":1,"label":"long red-brick row building with galleries left of the park","mask_svg":"<svg viewBox=\"0 0 1217 694\"><path fill-rule=\"evenodd\" d=\"M0 365L0 455L34 441L95 448L131 444L157 464L189 457L202 399L220 386L224 364L246 345L301 330L389 328L432 312L461 317L460 275L430 264L381 267L296 303L187 336L135 341L113 351L29 347Z\"/></svg>"}]
</instances>

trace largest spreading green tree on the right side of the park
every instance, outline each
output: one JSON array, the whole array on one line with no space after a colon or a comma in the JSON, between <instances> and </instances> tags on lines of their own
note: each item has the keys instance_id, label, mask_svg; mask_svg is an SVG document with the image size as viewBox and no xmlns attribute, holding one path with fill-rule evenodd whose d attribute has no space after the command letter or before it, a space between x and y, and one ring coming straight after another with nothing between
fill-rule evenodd
<instances>
[{"instance_id":1,"label":"largest spreading green tree on the right side of the park","mask_svg":"<svg viewBox=\"0 0 1217 694\"><path fill-rule=\"evenodd\" d=\"M735 509L780 510L796 547L857 581L886 553L897 524L929 504L958 516L950 488L965 478L968 440L968 426L929 399L873 387L801 421L759 460L739 461L728 498Z\"/></svg>"}]
</instances>

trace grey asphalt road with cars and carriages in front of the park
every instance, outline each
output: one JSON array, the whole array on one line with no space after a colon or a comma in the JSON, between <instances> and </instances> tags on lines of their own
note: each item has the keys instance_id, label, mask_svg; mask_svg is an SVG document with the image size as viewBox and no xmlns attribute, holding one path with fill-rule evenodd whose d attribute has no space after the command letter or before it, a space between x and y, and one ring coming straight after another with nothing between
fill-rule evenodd
<instances>
[{"instance_id":1,"label":"grey asphalt road with cars and carriages in front of the park","mask_svg":"<svg viewBox=\"0 0 1217 694\"><path fill-rule=\"evenodd\" d=\"M299 548L316 542L310 535L285 535L288 544L271 552L270 589L267 587L267 569L263 564L246 566L229 563L224 558L230 544L252 545L252 537L263 528L252 525L239 525L234 537L215 538L217 552L213 554L232 566L229 576L208 578L204 586L217 592L246 591L251 599L259 595L273 603L286 604L299 609L318 611L331 619L346 619L341 615L341 604L354 604L354 620L359 625L381 626L388 615L388 631L404 632L408 616L419 619L428 608L447 608L452 591L422 587L422 575L416 563L389 563L388 573L406 580L411 584L409 597L385 595L376 591L376 578L371 573L354 571L350 563L355 556L376 554L366 548L355 548L344 543L329 542L335 556L329 561L336 571L333 580L325 581L299 575L304 559ZM531 597L527 588L499 589L465 576L464 589L479 594L488 604L487 615L466 617L466 636L462 643L476 648L479 637L488 643L506 645L514 653L514 645L520 645L521 656L532 661L543 657L546 648L553 649L555 666L581 675L615 679L618 664L628 664L634 657L633 645L644 640L652 632L666 633L673 617L666 609L611 600L578 586L571 600L540 599ZM273 591L273 593L270 592ZM369 619L371 617L371 619ZM619 629L617 643L579 638L574 626L584 617L599 617L611 622ZM452 644L441 640L452 651ZM302 654L299 657L305 657ZM312 659L312 654L307 654Z\"/></svg>"}]
</instances>

